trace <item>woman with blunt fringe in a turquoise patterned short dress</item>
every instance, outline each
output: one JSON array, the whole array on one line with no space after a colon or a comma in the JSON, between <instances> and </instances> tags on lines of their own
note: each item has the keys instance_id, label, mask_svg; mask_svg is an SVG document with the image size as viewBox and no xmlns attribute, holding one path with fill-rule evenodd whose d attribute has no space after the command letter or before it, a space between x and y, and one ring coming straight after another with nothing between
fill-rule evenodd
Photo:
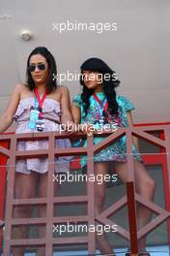
<instances>
[{"instance_id":1,"label":"woman with blunt fringe in a turquoise patterned short dress","mask_svg":"<svg viewBox=\"0 0 170 256\"><path fill-rule=\"evenodd\" d=\"M83 86L82 93L73 98L72 116L75 123L84 124L88 135L92 134L92 126L98 131L99 127L110 125L110 128L128 127L133 125L131 110L134 106L126 97L116 94L115 88L120 84L114 71L99 58L90 58L80 67ZM108 126L107 126L108 127ZM94 144L103 140L95 137ZM84 141L83 146L87 145ZM133 139L132 152L135 168L136 192L145 199L153 201L155 194L155 181L147 173L142 158L138 152L137 140ZM125 183L128 180L127 147L126 137L119 139L114 144L106 146L94 155L95 175L105 176L108 174L110 165ZM81 157L81 167L87 165L87 157ZM105 200L105 183L95 182L95 208L96 214L103 210ZM138 226L146 225L151 218L147 208L139 205L137 208ZM145 251L146 238L138 241L141 255L149 255ZM97 236L97 244L101 253L112 253L112 248L106 238ZM143 254L142 254L143 253ZM130 255L127 253L127 255Z\"/></svg>"}]
</instances>

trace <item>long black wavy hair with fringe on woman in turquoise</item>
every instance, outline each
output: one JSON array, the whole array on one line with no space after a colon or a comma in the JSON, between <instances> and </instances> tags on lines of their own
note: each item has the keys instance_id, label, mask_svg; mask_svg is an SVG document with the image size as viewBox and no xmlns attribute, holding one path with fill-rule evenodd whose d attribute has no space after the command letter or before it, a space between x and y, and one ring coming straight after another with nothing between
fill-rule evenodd
<instances>
[{"instance_id":1,"label":"long black wavy hair with fringe on woman in turquoise","mask_svg":"<svg viewBox=\"0 0 170 256\"><path fill-rule=\"evenodd\" d=\"M108 101L108 112L111 114L118 114L118 103L116 101L116 91L115 87L117 87L120 84L120 80L117 80L116 73L109 68L109 66L102 61L99 58L90 58L86 60L80 67L81 70L81 76L80 76L80 84L83 85L83 92L81 94L81 99L84 105L84 111L87 114L90 102L89 98L94 93L93 89L88 89L84 83L83 80L83 71L92 71L92 72L99 72L99 74L109 74L111 77L114 78L114 80L106 80L104 76L102 76L102 85L103 85L103 91L106 95L107 101Z\"/></svg>"}]
</instances>

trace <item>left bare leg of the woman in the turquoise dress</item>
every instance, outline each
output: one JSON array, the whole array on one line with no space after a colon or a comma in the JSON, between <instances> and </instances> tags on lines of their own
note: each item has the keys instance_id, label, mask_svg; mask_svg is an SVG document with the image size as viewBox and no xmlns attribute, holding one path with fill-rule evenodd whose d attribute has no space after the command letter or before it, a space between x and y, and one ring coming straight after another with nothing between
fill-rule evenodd
<instances>
[{"instance_id":1,"label":"left bare leg of the woman in the turquoise dress","mask_svg":"<svg viewBox=\"0 0 170 256\"><path fill-rule=\"evenodd\" d=\"M95 163L95 175L106 175L108 173L109 163L100 162ZM95 214L99 214L103 210L104 201L105 201L105 183L101 184L96 180L95 182ZM113 253L113 250L107 240L106 234L98 235L96 234L97 246L99 247L99 251L102 254L105 253Z\"/></svg>"}]
</instances>

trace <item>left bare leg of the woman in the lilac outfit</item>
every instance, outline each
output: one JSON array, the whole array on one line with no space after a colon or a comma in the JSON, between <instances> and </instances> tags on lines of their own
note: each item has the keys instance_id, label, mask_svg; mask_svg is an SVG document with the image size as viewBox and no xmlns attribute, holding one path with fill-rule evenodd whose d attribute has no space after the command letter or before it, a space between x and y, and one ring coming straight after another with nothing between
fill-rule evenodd
<instances>
[{"instance_id":1,"label":"left bare leg of the woman in the lilac outfit","mask_svg":"<svg viewBox=\"0 0 170 256\"><path fill-rule=\"evenodd\" d=\"M20 173L15 174L15 187L14 187L14 197L16 199L23 198L33 198L35 196L36 181L38 175L31 172L30 175L24 175ZM15 218L24 218L31 216L31 208L14 208ZM27 227L17 227L14 228L14 239L22 238L25 239L28 235ZM23 256L24 248L13 248L14 256Z\"/></svg>"}]
</instances>

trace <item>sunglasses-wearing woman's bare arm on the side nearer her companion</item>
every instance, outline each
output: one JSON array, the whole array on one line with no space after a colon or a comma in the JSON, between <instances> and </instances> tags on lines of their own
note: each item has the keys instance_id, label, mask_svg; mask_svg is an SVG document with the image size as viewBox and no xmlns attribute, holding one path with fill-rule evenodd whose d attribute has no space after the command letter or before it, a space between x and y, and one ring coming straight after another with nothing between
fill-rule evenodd
<instances>
[{"instance_id":1,"label":"sunglasses-wearing woman's bare arm on the side nearer her companion","mask_svg":"<svg viewBox=\"0 0 170 256\"><path fill-rule=\"evenodd\" d=\"M71 116L71 98L70 92L67 87L62 86L62 98L61 98L61 108L62 108L62 124L66 124L68 126L69 123L72 123Z\"/></svg>"}]
</instances>

